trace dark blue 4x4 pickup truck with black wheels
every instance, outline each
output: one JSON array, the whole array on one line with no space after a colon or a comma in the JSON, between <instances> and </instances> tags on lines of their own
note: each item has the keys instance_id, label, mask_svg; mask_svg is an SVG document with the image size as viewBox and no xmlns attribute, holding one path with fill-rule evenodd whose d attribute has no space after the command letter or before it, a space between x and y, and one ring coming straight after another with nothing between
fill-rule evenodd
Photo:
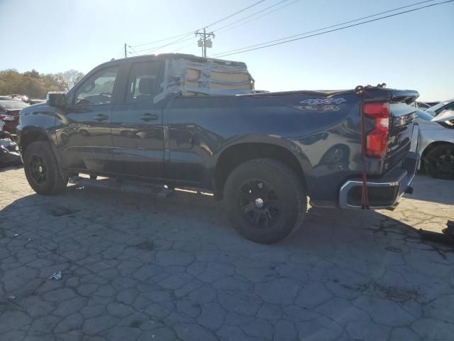
<instances>
[{"instance_id":1,"label":"dark blue 4x4 pickup truck with black wheels","mask_svg":"<svg viewBox=\"0 0 454 341\"><path fill-rule=\"evenodd\" d=\"M244 63L148 55L99 65L22 109L18 144L36 193L68 180L211 191L240 234L273 243L301 225L306 197L374 209L411 192L419 155L408 104L418 96L383 86L259 94Z\"/></svg>"}]
</instances>

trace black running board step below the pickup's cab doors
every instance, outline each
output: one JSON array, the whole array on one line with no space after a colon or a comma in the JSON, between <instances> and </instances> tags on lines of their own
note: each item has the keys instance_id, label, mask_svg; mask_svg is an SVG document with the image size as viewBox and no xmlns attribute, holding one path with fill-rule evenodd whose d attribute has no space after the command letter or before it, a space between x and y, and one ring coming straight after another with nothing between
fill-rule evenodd
<instances>
[{"instance_id":1,"label":"black running board step below the pickup's cab doors","mask_svg":"<svg viewBox=\"0 0 454 341\"><path fill-rule=\"evenodd\" d=\"M114 178L105 179L89 179L82 178L80 176L74 176L68 180L69 183L77 185L79 187L93 187L93 188L105 188L108 190L119 190L125 193L140 193L148 195L156 195L157 197L170 197L174 193L174 190L165 188L162 185L153 185L150 183L135 183L132 181L118 181Z\"/></svg>"}]
</instances>

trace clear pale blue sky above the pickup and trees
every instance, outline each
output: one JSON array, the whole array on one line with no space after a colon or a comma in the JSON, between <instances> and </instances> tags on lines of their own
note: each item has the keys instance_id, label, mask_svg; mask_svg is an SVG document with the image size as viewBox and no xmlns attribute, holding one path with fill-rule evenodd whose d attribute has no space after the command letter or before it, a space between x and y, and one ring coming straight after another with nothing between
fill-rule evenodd
<instances>
[{"instance_id":1,"label":"clear pale blue sky above the pickup and trees","mask_svg":"<svg viewBox=\"0 0 454 341\"><path fill-rule=\"evenodd\" d=\"M111 58L123 57L124 43L132 46L128 55L201 55L197 38L190 32L257 1L0 0L0 70L48 73L75 69L86 73ZM280 1L262 1L209 26L207 30L216 37L208 56L421 0L287 0L256 16L278 9L273 13L220 29ZM279 9L284 5L288 6ZM239 23L244 24L235 27ZM159 50L155 48L178 38L137 46L184 33L188 33L185 41ZM245 62L258 90L338 90L385 82L395 89L418 90L423 101L436 101L454 97L453 42L451 2L223 59Z\"/></svg>"}]
</instances>

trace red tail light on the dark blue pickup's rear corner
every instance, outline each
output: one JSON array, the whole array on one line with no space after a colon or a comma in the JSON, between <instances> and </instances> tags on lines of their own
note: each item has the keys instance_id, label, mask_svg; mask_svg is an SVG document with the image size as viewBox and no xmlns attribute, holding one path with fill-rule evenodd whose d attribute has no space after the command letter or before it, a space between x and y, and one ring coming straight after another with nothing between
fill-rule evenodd
<instances>
[{"instance_id":1,"label":"red tail light on the dark blue pickup's rear corner","mask_svg":"<svg viewBox=\"0 0 454 341\"><path fill-rule=\"evenodd\" d=\"M389 133L389 103L369 102L362 107L365 117L374 120L374 128L366 134L366 155L383 158L386 155Z\"/></svg>"}]
</instances>

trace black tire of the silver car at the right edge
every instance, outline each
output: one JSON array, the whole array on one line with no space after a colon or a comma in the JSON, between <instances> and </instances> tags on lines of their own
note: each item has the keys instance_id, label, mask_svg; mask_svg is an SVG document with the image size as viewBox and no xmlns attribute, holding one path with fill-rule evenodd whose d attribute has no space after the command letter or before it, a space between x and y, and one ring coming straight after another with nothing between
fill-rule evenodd
<instances>
[{"instance_id":1,"label":"black tire of the silver car at the right edge","mask_svg":"<svg viewBox=\"0 0 454 341\"><path fill-rule=\"evenodd\" d=\"M428 152L424 166L433 178L454 179L454 146L436 146Z\"/></svg>"}]
</instances>

